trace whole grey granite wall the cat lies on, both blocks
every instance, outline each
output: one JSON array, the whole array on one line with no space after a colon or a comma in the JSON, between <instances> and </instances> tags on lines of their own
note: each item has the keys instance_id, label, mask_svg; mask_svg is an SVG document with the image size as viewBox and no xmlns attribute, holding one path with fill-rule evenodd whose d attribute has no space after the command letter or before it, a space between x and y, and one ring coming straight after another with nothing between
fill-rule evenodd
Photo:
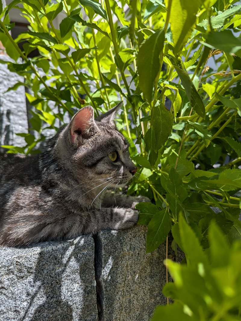
<instances>
[{"instance_id":1,"label":"whole grey granite wall the cat lies on, both blocks","mask_svg":"<svg viewBox=\"0 0 241 321\"><path fill-rule=\"evenodd\" d=\"M165 245L146 227L0 249L1 321L148 321L166 304Z\"/></svg>"}]
</instances>

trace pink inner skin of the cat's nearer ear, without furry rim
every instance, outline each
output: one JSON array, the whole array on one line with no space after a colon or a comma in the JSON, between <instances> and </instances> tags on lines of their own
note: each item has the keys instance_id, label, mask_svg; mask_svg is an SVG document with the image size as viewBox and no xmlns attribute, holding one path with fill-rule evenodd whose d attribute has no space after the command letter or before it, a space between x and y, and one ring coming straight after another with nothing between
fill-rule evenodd
<instances>
[{"instance_id":1,"label":"pink inner skin of the cat's nearer ear, without furry rim","mask_svg":"<svg viewBox=\"0 0 241 321\"><path fill-rule=\"evenodd\" d=\"M91 106L86 106L74 116L72 121L72 126L69 130L71 135L71 141L74 143L76 133L83 134L86 129L90 127L90 124L93 120L93 108Z\"/></svg>"}]
</instances>

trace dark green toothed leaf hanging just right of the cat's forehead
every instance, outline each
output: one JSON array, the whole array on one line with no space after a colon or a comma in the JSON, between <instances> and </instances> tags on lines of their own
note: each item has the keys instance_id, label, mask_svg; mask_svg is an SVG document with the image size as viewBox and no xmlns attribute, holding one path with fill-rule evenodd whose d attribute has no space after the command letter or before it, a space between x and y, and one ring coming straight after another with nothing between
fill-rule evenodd
<instances>
[{"instance_id":1,"label":"dark green toothed leaf hanging just right of the cat's forehead","mask_svg":"<svg viewBox=\"0 0 241 321\"><path fill-rule=\"evenodd\" d=\"M160 103L151 110L151 126L145 134L148 160L154 166L157 160L157 151L165 144L172 132L173 116L165 106Z\"/></svg>"}]
</instances>

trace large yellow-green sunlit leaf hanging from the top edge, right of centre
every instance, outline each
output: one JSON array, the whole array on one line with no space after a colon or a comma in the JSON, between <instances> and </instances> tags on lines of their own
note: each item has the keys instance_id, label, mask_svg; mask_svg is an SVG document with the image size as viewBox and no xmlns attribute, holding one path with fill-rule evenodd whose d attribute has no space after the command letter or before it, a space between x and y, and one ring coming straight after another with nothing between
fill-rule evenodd
<instances>
[{"instance_id":1,"label":"large yellow-green sunlit leaf hanging from the top edge, right of centre","mask_svg":"<svg viewBox=\"0 0 241 321\"><path fill-rule=\"evenodd\" d=\"M196 14L203 0L172 0L170 26L173 34L174 53L177 54L191 35Z\"/></svg>"}]
</instances>

